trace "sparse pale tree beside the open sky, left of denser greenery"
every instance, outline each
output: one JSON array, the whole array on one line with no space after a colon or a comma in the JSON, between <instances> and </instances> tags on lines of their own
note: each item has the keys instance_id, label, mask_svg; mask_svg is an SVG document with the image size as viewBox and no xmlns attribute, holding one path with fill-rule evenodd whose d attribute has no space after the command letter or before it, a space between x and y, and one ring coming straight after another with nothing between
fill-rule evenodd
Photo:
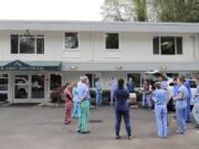
<instances>
[{"instance_id":1,"label":"sparse pale tree beside the open sky, left of denser greenery","mask_svg":"<svg viewBox=\"0 0 199 149\"><path fill-rule=\"evenodd\" d=\"M108 21L147 21L147 0L105 0L103 18Z\"/></svg>"}]
</instances>

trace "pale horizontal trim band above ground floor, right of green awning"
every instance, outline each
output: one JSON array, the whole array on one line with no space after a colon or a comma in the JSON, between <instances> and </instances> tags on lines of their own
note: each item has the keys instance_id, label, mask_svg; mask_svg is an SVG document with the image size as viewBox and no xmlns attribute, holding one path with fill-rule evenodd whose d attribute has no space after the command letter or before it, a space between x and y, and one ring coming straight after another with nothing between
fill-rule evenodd
<instances>
[{"instance_id":1,"label":"pale horizontal trim band above ground floor, right of green awning","mask_svg":"<svg viewBox=\"0 0 199 149\"><path fill-rule=\"evenodd\" d=\"M62 71L199 71L199 63L67 63Z\"/></svg>"}]
</instances>

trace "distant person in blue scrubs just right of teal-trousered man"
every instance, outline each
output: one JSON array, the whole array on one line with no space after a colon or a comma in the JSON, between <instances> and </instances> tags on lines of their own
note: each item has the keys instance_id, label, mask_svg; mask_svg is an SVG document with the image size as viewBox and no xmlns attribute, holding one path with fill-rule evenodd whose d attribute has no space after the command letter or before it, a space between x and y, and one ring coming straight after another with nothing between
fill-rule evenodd
<instances>
[{"instance_id":1,"label":"distant person in blue scrubs just right of teal-trousered man","mask_svg":"<svg viewBox=\"0 0 199 149\"><path fill-rule=\"evenodd\" d=\"M102 103L102 84L100 78L96 78L95 81L95 103L96 106L101 106Z\"/></svg>"}]
</instances>

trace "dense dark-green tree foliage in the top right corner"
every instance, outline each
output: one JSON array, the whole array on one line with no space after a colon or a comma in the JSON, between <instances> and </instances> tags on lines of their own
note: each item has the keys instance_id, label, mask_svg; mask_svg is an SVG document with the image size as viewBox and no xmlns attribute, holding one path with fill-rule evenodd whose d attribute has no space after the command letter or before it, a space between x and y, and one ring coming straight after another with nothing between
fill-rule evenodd
<instances>
[{"instance_id":1,"label":"dense dark-green tree foliage in the top right corner","mask_svg":"<svg viewBox=\"0 0 199 149\"><path fill-rule=\"evenodd\" d=\"M153 0L158 21L198 22L199 0Z\"/></svg>"}]
</instances>

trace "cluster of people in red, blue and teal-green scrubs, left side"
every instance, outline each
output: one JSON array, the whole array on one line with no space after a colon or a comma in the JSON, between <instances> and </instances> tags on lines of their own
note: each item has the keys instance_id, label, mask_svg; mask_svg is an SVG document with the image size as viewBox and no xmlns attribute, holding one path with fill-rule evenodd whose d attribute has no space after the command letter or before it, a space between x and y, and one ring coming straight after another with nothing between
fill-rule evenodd
<instances>
[{"instance_id":1,"label":"cluster of people in red, blue and teal-green scrubs, left side","mask_svg":"<svg viewBox=\"0 0 199 149\"><path fill-rule=\"evenodd\" d=\"M71 124L71 118L78 118L77 132L88 134L87 121L90 113L90 86L87 76L81 76L78 83L70 83L64 89L65 124ZM73 106L73 111L72 111Z\"/></svg>"}]
</instances>

